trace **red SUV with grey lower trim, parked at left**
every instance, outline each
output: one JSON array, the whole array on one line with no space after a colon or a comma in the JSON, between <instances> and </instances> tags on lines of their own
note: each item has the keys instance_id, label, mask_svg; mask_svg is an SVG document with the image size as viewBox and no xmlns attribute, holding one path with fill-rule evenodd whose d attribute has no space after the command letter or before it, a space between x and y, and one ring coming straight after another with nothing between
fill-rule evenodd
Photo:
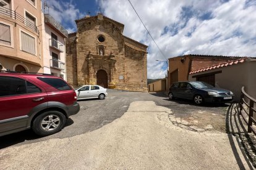
<instances>
[{"instance_id":1,"label":"red SUV with grey lower trim, parked at left","mask_svg":"<svg viewBox=\"0 0 256 170\"><path fill-rule=\"evenodd\" d=\"M0 71L0 136L30 127L48 136L61 131L79 110L74 89L61 78Z\"/></svg>"}]
</instances>

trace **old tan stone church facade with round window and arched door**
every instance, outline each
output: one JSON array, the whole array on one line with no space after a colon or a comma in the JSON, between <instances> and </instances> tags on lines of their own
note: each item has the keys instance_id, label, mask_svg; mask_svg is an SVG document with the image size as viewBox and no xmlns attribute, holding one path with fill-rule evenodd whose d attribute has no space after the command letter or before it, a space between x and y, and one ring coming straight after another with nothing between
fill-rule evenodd
<instances>
[{"instance_id":1,"label":"old tan stone church facade with round window and arched door","mask_svg":"<svg viewBox=\"0 0 256 170\"><path fill-rule=\"evenodd\" d=\"M102 14L75 22L77 32L66 41L69 84L147 92L148 46L124 36L124 25Z\"/></svg>"}]
</instances>

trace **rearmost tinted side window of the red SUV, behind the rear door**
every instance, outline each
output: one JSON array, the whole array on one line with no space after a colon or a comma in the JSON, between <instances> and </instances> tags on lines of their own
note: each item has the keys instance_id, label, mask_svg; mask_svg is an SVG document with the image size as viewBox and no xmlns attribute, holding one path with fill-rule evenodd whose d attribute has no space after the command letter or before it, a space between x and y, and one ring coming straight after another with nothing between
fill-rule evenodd
<instances>
[{"instance_id":1,"label":"rearmost tinted side window of the red SUV, behind the rear door","mask_svg":"<svg viewBox=\"0 0 256 170\"><path fill-rule=\"evenodd\" d=\"M60 90L60 91L67 91L71 90L69 85L65 81L59 78L38 78L41 81L49 84L50 86L53 86L54 88Z\"/></svg>"}]
</instances>

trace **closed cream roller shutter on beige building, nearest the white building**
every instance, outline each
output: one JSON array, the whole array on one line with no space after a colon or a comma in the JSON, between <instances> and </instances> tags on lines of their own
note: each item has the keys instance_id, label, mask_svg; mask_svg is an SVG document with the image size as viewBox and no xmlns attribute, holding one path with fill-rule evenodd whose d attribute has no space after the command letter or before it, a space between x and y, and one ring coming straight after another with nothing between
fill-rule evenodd
<instances>
[{"instance_id":1,"label":"closed cream roller shutter on beige building, nearest the white building","mask_svg":"<svg viewBox=\"0 0 256 170\"><path fill-rule=\"evenodd\" d=\"M22 51L35 55L35 38L21 31Z\"/></svg>"}]
</instances>

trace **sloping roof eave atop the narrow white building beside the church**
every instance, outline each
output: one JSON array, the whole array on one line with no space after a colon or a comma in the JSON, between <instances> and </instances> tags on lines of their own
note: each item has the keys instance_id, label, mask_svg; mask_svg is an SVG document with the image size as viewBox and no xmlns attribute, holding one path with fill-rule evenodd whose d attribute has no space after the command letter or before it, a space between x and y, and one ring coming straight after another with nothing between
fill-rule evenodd
<instances>
[{"instance_id":1,"label":"sloping roof eave atop the narrow white building beside the church","mask_svg":"<svg viewBox=\"0 0 256 170\"><path fill-rule=\"evenodd\" d=\"M67 30L59 22L54 20L51 15L45 14L45 23L51 26L51 28L53 28L54 30L58 31L58 33L62 34L65 38L67 38Z\"/></svg>"}]
</instances>

